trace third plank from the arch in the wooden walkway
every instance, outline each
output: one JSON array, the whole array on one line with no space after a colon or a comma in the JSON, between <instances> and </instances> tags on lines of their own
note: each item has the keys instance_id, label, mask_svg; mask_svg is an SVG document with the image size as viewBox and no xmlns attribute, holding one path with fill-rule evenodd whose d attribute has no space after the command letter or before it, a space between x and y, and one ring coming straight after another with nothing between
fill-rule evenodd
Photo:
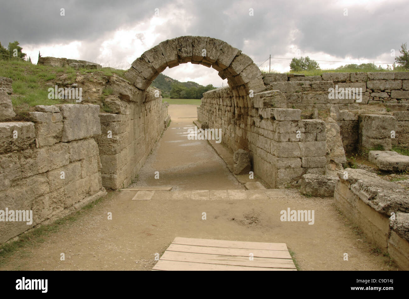
<instances>
[{"instance_id":1,"label":"third plank from the arch in the wooden walkway","mask_svg":"<svg viewBox=\"0 0 409 299\"><path fill-rule=\"evenodd\" d=\"M168 261L188 261L203 264L295 269L292 259L272 259L267 257L254 257L253 260L250 260L249 257L165 251L160 259Z\"/></svg>"}]
</instances>

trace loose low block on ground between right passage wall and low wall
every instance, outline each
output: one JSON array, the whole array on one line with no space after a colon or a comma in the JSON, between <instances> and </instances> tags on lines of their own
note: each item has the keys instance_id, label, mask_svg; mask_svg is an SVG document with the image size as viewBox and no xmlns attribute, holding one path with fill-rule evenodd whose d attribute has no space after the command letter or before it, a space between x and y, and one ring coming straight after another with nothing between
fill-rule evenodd
<instances>
[{"instance_id":1,"label":"loose low block on ground between right passage wall and low wall","mask_svg":"<svg viewBox=\"0 0 409 299\"><path fill-rule=\"evenodd\" d=\"M339 180L336 176L305 174L301 179L300 191L312 196L334 196L335 184Z\"/></svg>"}]
</instances>

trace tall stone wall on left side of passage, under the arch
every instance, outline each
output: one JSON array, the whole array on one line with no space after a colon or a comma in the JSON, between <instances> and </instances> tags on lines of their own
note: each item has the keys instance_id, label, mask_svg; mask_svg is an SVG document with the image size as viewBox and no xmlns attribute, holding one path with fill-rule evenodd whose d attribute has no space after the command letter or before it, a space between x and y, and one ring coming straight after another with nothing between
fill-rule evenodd
<instances>
[{"instance_id":1,"label":"tall stone wall on left side of passage, under the arch","mask_svg":"<svg viewBox=\"0 0 409 299\"><path fill-rule=\"evenodd\" d=\"M99 115L102 134L96 140L102 184L115 190L132 183L170 118L155 88L139 91L117 76L110 78L107 87L113 92L104 102L114 113Z\"/></svg>"}]
</instances>

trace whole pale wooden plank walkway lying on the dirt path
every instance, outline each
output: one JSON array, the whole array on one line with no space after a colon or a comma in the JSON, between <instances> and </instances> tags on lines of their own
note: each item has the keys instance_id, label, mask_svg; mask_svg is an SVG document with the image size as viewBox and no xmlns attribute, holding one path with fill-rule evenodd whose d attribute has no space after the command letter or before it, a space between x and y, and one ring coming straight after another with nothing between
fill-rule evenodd
<instances>
[{"instance_id":1,"label":"whole pale wooden plank walkway lying on the dirt path","mask_svg":"<svg viewBox=\"0 0 409 299\"><path fill-rule=\"evenodd\" d=\"M152 270L296 271L285 243L176 237Z\"/></svg>"}]
</instances>

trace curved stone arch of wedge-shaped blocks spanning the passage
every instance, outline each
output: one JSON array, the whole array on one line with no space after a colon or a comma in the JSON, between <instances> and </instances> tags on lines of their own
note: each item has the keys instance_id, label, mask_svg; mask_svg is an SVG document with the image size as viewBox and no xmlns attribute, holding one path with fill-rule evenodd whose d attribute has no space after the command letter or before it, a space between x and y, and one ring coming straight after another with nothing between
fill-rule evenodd
<instances>
[{"instance_id":1,"label":"curved stone arch of wedge-shaped blocks spanning the passage","mask_svg":"<svg viewBox=\"0 0 409 299\"><path fill-rule=\"evenodd\" d=\"M265 90L263 75L249 56L227 42L203 36L181 36L161 42L132 63L126 78L137 89L146 91L166 67L187 62L218 71L220 78L227 78L235 97L248 97L250 90Z\"/></svg>"}]
</instances>

